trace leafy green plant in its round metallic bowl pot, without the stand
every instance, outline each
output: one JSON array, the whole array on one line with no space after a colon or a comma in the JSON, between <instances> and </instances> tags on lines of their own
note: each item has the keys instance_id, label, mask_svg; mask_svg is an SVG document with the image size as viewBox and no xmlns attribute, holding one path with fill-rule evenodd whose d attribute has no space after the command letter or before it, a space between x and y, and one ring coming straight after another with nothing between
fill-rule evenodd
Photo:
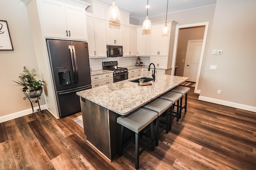
<instances>
[{"instance_id":1,"label":"leafy green plant in its round metallic bowl pot, without the stand","mask_svg":"<svg viewBox=\"0 0 256 170\"><path fill-rule=\"evenodd\" d=\"M28 70L26 66L23 67L23 72L19 78L20 80L14 81L18 86L22 86L22 91L26 97L36 98L42 94L44 80L36 80L36 69Z\"/></svg>"}]
</instances>

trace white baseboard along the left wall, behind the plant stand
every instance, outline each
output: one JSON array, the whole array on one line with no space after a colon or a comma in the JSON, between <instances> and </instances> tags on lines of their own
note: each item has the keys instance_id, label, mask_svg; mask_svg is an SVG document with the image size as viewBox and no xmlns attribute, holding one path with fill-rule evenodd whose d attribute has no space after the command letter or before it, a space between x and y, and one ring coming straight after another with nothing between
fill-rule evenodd
<instances>
[{"instance_id":1,"label":"white baseboard along the left wall, behind the plant stand","mask_svg":"<svg viewBox=\"0 0 256 170\"><path fill-rule=\"evenodd\" d=\"M42 105L42 106L40 106L40 108L42 110L47 109L47 105L46 104ZM34 110L36 110L36 109L39 109L39 107L38 106L34 107ZM32 113L32 108L26 109L26 110L22 110L22 111L18 111L16 113L12 113L10 115L4 115L4 116L0 117L0 123L8 121L8 120L15 119L15 118L18 118L18 117L22 117L22 116L25 116L25 115L29 115L31 113Z\"/></svg>"}]
</instances>

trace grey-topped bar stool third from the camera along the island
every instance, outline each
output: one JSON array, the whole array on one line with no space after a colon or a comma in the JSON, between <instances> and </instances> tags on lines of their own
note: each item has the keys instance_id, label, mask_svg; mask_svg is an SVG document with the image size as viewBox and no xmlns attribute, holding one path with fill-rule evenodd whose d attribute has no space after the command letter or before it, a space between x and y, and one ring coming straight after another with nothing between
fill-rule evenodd
<instances>
[{"instance_id":1,"label":"grey-topped bar stool third from the camera along the island","mask_svg":"<svg viewBox=\"0 0 256 170\"><path fill-rule=\"evenodd\" d=\"M163 96L160 96L160 99L164 99L164 100L169 100L172 102L172 108L174 108L174 106L177 106L177 111L170 111L170 125L169 125L169 129L172 130L172 120L177 117L177 121L179 121L179 113L181 110L181 105L180 105L180 100L182 98L182 94L180 93L175 93L175 92L168 92L166 94L164 94ZM175 103L177 102L177 105L175 105Z\"/></svg>"}]
</instances>

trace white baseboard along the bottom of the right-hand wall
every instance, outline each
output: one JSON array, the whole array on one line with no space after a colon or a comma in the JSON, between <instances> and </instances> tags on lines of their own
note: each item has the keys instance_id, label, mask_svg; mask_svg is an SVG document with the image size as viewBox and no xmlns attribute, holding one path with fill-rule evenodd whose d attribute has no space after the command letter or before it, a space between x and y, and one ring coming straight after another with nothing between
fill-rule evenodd
<instances>
[{"instance_id":1,"label":"white baseboard along the bottom of the right-hand wall","mask_svg":"<svg viewBox=\"0 0 256 170\"><path fill-rule=\"evenodd\" d=\"M208 97L204 97L204 96L199 96L198 100L202 100L202 101L206 101L206 102L211 102L211 103L215 103L215 104L221 104L221 105L224 105L224 106L230 106L230 107L235 107L235 108L238 108L238 109L243 109L243 110L248 110L248 111L256 112L256 107L253 107L253 106L248 106L248 105L228 102L228 101L214 99L214 98L208 98Z\"/></svg>"}]
</instances>

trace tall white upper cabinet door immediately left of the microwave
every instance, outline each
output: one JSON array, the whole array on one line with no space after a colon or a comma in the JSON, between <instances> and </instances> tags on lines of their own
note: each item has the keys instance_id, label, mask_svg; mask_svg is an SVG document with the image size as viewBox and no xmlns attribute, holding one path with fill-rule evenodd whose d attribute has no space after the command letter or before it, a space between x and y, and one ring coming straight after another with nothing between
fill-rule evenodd
<instances>
[{"instance_id":1,"label":"tall white upper cabinet door immediately left of the microwave","mask_svg":"<svg viewBox=\"0 0 256 170\"><path fill-rule=\"evenodd\" d=\"M94 22L97 57L107 57L105 21L95 18Z\"/></svg>"}]
</instances>

